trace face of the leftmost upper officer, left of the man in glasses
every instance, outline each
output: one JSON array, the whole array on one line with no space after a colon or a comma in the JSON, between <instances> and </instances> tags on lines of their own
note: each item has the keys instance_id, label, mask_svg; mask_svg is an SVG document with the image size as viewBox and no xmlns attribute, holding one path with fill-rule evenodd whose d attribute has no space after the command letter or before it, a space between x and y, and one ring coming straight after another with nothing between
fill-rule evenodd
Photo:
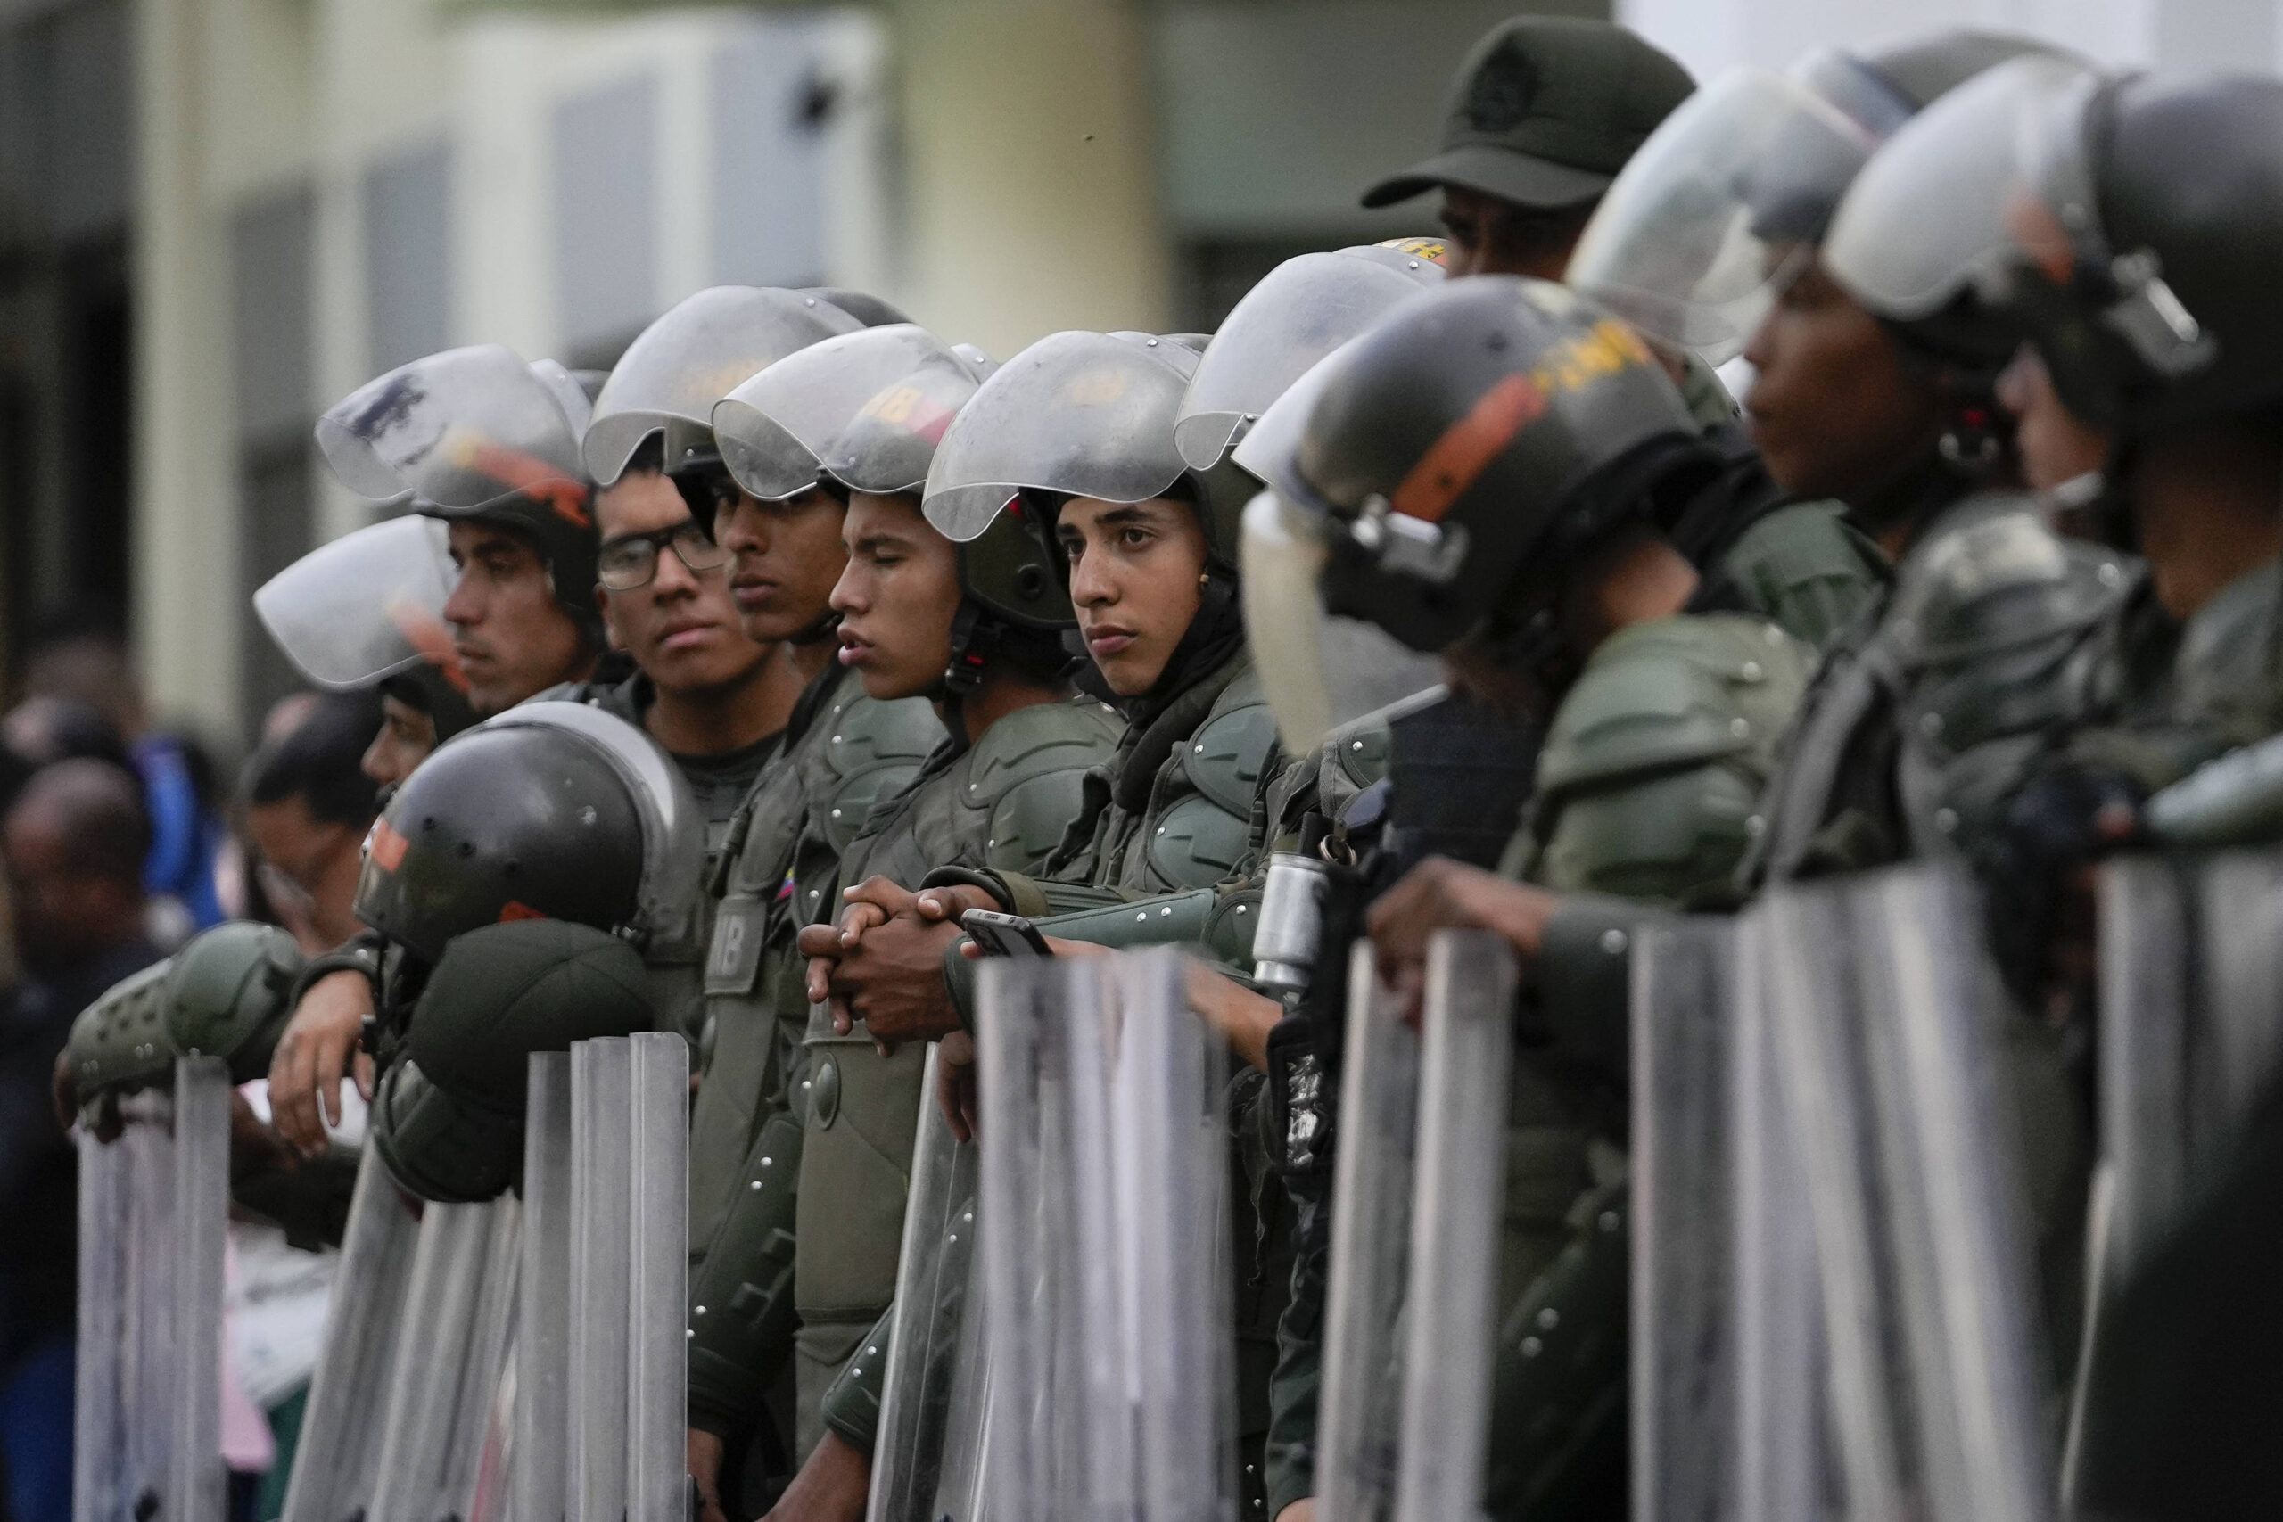
<instances>
[{"instance_id":1,"label":"face of the leftmost upper officer, left of the man in glasses","mask_svg":"<svg viewBox=\"0 0 2283 1522\"><path fill-rule=\"evenodd\" d=\"M507 712L534 691L594 666L571 614L555 600L546 561L521 534L486 523L452 525L459 582L443 605L452 650L477 717Z\"/></svg>"}]
</instances>

